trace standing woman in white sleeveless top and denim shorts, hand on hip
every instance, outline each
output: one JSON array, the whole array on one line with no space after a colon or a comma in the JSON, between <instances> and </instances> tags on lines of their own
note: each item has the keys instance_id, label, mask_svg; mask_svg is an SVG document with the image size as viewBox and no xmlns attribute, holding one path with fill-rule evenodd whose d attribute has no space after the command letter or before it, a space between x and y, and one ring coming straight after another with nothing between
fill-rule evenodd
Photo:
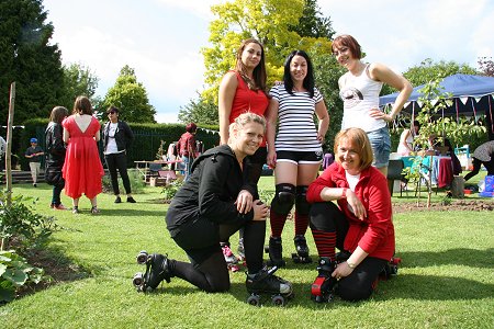
<instances>
[{"instance_id":1,"label":"standing woman in white sleeveless top and denim shorts, hand on hip","mask_svg":"<svg viewBox=\"0 0 494 329\"><path fill-rule=\"evenodd\" d=\"M358 127L368 134L374 154L372 166L386 175L391 154L388 123L402 111L412 93L412 86L382 64L361 61L360 45L351 35L337 36L332 49L339 65L348 70L338 79L339 95L344 101L341 129ZM389 114L379 110L379 93L383 83L400 91Z\"/></svg>"}]
</instances>

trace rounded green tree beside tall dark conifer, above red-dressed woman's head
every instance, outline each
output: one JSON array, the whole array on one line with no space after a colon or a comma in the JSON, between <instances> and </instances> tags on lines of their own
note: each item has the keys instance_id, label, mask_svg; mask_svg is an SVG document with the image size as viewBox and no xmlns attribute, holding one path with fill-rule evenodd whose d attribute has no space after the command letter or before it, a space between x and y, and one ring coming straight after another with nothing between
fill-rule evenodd
<instances>
[{"instance_id":1,"label":"rounded green tree beside tall dark conifer, above red-dressed woman's head","mask_svg":"<svg viewBox=\"0 0 494 329\"><path fill-rule=\"evenodd\" d=\"M94 98L98 88L98 77L81 64L71 64L64 66L64 94L60 104L71 109L74 101L78 95L86 95L91 100L92 105L98 103Z\"/></svg>"}]
</instances>

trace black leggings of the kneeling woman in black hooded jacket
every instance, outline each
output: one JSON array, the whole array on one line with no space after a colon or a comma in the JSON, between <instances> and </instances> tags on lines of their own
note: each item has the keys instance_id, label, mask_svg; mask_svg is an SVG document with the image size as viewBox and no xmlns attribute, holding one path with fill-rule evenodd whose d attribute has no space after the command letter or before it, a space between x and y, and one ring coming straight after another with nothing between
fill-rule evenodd
<instances>
[{"instance_id":1,"label":"black leggings of the kneeling woman in black hooded jacket","mask_svg":"<svg viewBox=\"0 0 494 329\"><path fill-rule=\"evenodd\" d=\"M173 239L182 248L190 263L172 261L171 273L197 287L210 292L229 290L229 275L220 241L225 241L240 227L244 228L245 259L249 273L262 269L266 222L251 220L237 225L215 225L198 219L181 230Z\"/></svg>"}]
</instances>

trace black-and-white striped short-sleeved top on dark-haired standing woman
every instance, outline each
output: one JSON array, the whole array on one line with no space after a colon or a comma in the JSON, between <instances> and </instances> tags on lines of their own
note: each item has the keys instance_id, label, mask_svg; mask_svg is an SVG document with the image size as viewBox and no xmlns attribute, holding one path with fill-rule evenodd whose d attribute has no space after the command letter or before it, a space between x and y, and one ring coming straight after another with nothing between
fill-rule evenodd
<instances>
[{"instance_id":1,"label":"black-and-white striped short-sleeved top on dark-haired standing woman","mask_svg":"<svg viewBox=\"0 0 494 329\"><path fill-rule=\"evenodd\" d=\"M274 147L288 151L323 151L317 140L314 123L315 105L323 101L323 95L314 88L314 97L308 92L293 91L290 94L284 84L274 86L270 94L279 104L278 134Z\"/></svg>"}]
</instances>

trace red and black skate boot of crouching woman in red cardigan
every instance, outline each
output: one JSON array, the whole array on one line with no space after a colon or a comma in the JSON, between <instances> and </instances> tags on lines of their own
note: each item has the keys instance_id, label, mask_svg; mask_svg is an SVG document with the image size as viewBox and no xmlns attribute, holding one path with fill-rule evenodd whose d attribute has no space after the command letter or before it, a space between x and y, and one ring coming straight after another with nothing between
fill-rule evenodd
<instances>
[{"instance_id":1,"label":"red and black skate boot of crouching woman in red cardigan","mask_svg":"<svg viewBox=\"0 0 494 329\"><path fill-rule=\"evenodd\" d=\"M338 282L332 276L333 271L336 268L336 262L333 262L330 258L322 257L317 264L317 271L319 274L315 279L311 286L312 299L316 303L326 303L333 300L333 291Z\"/></svg>"}]
</instances>

